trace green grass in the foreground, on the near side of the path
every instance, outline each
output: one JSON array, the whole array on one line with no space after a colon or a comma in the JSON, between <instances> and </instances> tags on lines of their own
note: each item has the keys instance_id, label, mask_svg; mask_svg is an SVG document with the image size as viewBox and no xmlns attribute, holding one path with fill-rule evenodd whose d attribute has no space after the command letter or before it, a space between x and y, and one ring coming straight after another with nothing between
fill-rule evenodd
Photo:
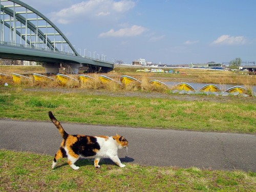
<instances>
[{"instance_id":1,"label":"green grass in the foreground, on the near side of the path","mask_svg":"<svg viewBox=\"0 0 256 192\"><path fill-rule=\"evenodd\" d=\"M51 168L51 156L0 150L1 191L255 191L252 172L156 167L126 164L120 168L89 159L73 170L62 159Z\"/></svg>"}]
</instances>

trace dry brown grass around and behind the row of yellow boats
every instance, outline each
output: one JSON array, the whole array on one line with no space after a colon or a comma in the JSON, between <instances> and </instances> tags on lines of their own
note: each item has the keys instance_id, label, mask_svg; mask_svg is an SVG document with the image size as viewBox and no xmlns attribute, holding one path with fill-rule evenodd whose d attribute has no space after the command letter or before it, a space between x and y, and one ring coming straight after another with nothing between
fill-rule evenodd
<instances>
[{"instance_id":1,"label":"dry brown grass around and behind the row of yellow boats","mask_svg":"<svg viewBox=\"0 0 256 192\"><path fill-rule=\"evenodd\" d=\"M198 82L198 83L213 83L216 84L221 90L226 90L227 84L234 85L242 85L249 95L252 94L253 90L251 86L256 85L256 75L245 75L242 73L234 73L231 71L208 71L208 70L196 70L196 69L176 69L176 71L180 71L179 74L168 74L168 73L139 73L136 72L136 69L129 69L125 71L114 70L109 72L108 74L104 74L105 76L111 77L117 82L120 82L121 75L132 76L141 81L132 82L128 85L119 84L114 81L110 81L109 83L102 83L99 80L99 74L89 74L89 76L94 79L88 80L87 82L77 82L70 80L64 86L66 88L80 88L80 89L105 89L109 91L156 91L156 92L166 92L165 86L155 86L150 83L150 80L157 79L162 82L166 81L176 81L176 82ZM23 74L29 76L30 79L22 79L20 84L26 86L39 86L39 87L59 87L59 84L55 78L54 81L34 81L33 73L43 74L45 72L45 68L40 66L0 66L0 73L4 73L7 75L11 75L12 73ZM62 72L62 71L61 71ZM74 79L78 79L78 75L68 75ZM4 84L7 82L8 84L14 84L12 82L12 77L0 77L0 83ZM167 90L172 90L173 88L167 88Z\"/></svg>"}]
</instances>

